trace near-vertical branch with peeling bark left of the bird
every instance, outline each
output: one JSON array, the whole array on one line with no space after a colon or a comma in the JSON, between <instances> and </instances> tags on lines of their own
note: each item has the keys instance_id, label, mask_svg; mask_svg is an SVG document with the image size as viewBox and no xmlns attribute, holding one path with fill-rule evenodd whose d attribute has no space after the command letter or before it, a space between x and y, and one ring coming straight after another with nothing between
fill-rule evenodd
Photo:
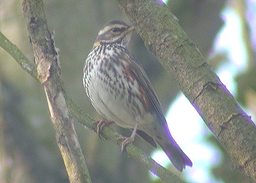
<instances>
[{"instance_id":1,"label":"near-vertical branch with peeling bark left of the bird","mask_svg":"<svg viewBox=\"0 0 256 183\"><path fill-rule=\"evenodd\" d=\"M51 122L70 182L91 182L85 159L66 106L66 95L60 84L60 63L52 35L47 28L43 1L24 0L23 14L33 46L38 79L43 85Z\"/></svg>"}]
</instances>

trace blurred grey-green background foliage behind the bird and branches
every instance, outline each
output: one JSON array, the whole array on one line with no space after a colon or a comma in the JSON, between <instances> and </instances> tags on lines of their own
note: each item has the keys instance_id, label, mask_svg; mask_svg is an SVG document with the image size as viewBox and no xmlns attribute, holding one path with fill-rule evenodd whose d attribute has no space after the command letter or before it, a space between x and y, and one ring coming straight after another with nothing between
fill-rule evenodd
<instances>
[{"instance_id":1,"label":"blurred grey-green background foliage behind the bird and branches","mask_svg":"<svg viewBox=\"0 0 256 183\"><path fill-rule=\"evenodd\" d=\"M105 22L113 19L129 21L112 0L43 2L49 29L54 32L56 46L60 49L62 82L66 94L89 115L101 119L83 90L83 64L98 30ZM226 3L223 0L168 2L171 12L179 19L179 24L192 41L197 43L206 58L221 28L219 14ZM33 61L21 1L0 1L0 30ZM179 89L160 63L148 53L137 33L133 34L130 50L146 70L164 110L167 111ZM213 55L209 63L214 69L224 58L225 54ZM255 60L255 53L252 59ZM251 87L252 83L256 83L253 82L256 78L253 71L255 70L237 78L238 86L242 88L239 101L244 106L252 105L247 101L256 101L255 86L254 90ZM244 88L249 89L244 91ZM43 88L3 49L0 49L0 109L0 182L68 182ZM123 157L116 145L100 140L97 134L86 130L77 122L74 125L93 182L161 182L151 180L148 170L140 163ZM116 126L112 128L129 135L126 130ZM221 148L214 137L207 140ZM135 143L148 153L152 151L139 138ZM213 175L223 182L247 182L237 167L230 167L230 158L222 148L221 150L223 162L211 169Z\"/></svg>"}]
</instances>

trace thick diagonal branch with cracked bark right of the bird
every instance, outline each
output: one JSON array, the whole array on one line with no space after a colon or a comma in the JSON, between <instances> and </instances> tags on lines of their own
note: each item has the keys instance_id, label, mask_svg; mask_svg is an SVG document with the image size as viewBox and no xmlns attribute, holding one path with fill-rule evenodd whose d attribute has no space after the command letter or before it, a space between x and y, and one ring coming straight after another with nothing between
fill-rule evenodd
<instances>
[{"instance_id":1,"label":"thick diagonal branch with cracked bark right of the bird","mask_svg":"<svg viewBox=\"0 0 256 183\"><path fill-rule=\"evenodd\" d=\"M177 18L159 1L117 2L148 51L175 78L240 171L256 182L255 124L205 62L196 45L177 23Z\"/></svg>"}]
</instances>

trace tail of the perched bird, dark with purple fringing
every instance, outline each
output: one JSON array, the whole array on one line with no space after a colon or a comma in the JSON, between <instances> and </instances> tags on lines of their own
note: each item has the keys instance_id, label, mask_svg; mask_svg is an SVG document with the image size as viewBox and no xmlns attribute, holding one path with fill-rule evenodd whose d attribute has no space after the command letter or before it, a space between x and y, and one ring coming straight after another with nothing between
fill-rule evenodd
<instances>
[{"instance_id":1,"label":"tail of the perched bird, dark with purple fringing","mask_svg":"<svg viewBox=\"0 0 256 183\"><path fill-rule=\"evenodd\" d=\"M182 172L185 169L186 165L192 167L192 161L188 158L188 156L180 149L179 145L175 142L172 136L169 136L169 143L159 143L160 147L165 151L167 157L169 157L171 163Z\"/></svg>"}]
</instances>

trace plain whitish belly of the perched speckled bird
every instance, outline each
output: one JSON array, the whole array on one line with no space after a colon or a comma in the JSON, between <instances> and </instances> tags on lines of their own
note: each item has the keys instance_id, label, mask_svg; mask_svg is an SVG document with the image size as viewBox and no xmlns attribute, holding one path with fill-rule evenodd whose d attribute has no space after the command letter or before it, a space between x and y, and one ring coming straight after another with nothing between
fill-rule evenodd
<instances>
[{"instance_id":1,"label":"plain whitish belly of the perched speckled bird","mask_svg":"<svg viewBox=\"0 0 256 183\"><path fill-rule=\"evenodd\" d=\"M95 73L94 73L95 74ZM144 129L144 124L150 125L154 121L151 113L144 113L140 116L138 113L127 106L127 101L120 96L114 98L114 94L107 90L106 84L95 76L91 76L89 83L89 93L93 99L93 107L102 114L107 120L114 121L123 128L133 128L135 122L139 122L139 129ZM91 86L90 86L91 85Z\"/></svg>"}]
</instances>

